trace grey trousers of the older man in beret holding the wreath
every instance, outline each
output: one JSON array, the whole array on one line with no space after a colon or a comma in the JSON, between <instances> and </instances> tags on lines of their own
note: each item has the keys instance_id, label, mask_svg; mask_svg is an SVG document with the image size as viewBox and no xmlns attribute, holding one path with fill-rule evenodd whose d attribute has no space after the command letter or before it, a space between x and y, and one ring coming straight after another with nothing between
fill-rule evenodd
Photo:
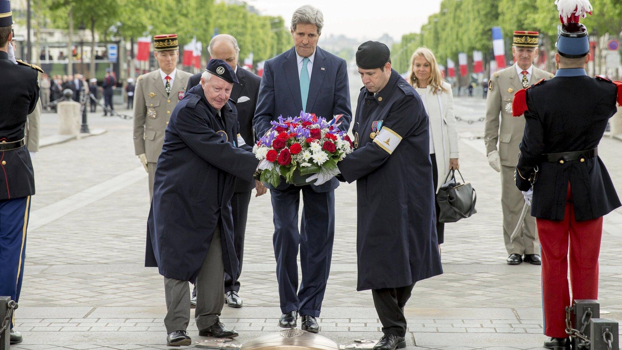
<instances>
[{"instance_id":1,"label":"grey trousers of the older man in beret holding the wreath","mask_svg":"<svg viewBox=\"0 0 622 350\"><path fill-rule=\"evenodd\" d=\"M199 270L197 286L197 308L195 321L201 331L211 327L220 316L225 305L225 265L220 246L220 227L216 227L211 239L207 257ZM190 322L190 288L188 281L164 277L164 295L167 313L164 318L166 333L185 331Z\"/></svg>"}]
</instances>

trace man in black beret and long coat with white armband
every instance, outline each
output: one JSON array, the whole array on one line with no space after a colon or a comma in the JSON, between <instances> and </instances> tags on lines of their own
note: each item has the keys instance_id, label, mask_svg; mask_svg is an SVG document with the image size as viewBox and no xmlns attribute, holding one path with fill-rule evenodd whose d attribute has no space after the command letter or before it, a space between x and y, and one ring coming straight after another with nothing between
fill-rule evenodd
<instances>
[{"instance_id":1,"label":"man in black beret and long coat with white armband","mask_svg":"<svg viewBox=\"0 0 622 350\"><path fill-rule=\"evenodd\" d=\"M374 350L401 349L415 282L443 272L429 122L417 92L391 69L386 45L365 42L356 65L365 85L353 128L356 150L338 168L345 181L356 181L357 290L371 289L383 324Z\"/></svg>"}]
</instances>

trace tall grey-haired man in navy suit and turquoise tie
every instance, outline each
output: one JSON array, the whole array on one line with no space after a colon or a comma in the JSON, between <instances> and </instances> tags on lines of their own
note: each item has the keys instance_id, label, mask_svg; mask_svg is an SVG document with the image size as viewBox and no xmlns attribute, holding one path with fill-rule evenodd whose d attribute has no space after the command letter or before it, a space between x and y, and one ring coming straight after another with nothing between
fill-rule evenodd
<instances>
[{"instance_id":1,"label":"tall grey-haired man in navy suit and turquoise tie","mask_svg":"<svg viewBox=\"0 0 622 350\"><path fill-rule=\"evenodd\" d=\"M270 122L282 115L298 116L300 111L331 120L343 115L340 128L347 131L352 112L346 62L317 46L324 17L313 6L299 7L292 16L292 49L267 60L259 88L253 126L263 136ZM337 179L321 186L296 187L282 181L271 188L274 210L274 255L283 315L282 328L295 328L298 314L302 329L318 332L335 235L335 188ZM304 208L298 229L300 191ZM300 245L302 283L298 290L297 255Z\"/></svg>"}]
</instances>

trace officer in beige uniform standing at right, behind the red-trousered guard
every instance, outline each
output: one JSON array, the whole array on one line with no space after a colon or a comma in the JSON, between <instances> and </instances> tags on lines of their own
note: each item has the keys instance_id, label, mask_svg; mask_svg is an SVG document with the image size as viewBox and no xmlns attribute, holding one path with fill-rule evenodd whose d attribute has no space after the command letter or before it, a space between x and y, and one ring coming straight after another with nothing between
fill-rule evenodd
<instances>
[{"instance_id":1,"label":"officer in beige uniform standing at right, behind the red-trousered guard","mask_svg":"<svg viewBox=\"0 0 622 350\"><path fill-rule=\"evenodd\" d=\"M514 242L509 237L514 231L525 203L521 191L514 184L514 167L518 162L518 146L525 126L524 116L512 116L514 93L541 79L553 75L533 65L538 54L538 32L514 32L512 47L515 64L493 73L488 82L486 98L485 143L490 166L501 173L501 207L503 208L503 239L509 265L529 262L540 265L536 219L527 214L522 222L522 235ZM499 115L501 115L499 117Z\"/></svg>"}]
</instances>

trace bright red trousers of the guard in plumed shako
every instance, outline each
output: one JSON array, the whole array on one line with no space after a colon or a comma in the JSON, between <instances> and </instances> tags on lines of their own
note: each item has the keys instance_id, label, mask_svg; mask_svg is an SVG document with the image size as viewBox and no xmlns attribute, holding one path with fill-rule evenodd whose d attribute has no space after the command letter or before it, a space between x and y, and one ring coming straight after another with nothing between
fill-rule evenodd
<instances>
[{"instance_id":1,"label":"bright red trousers of the guard in plumed shako","mask_svg":"<svg viewBox=\"0 0 622 350\"><path fill-rule=\"evenodd\" d=\"M572 300L598 299L598 254L603 218L577 221L570 184L564 220L536 219L542 247L542 304L544 334L566 338L565 307L570 305L568 260Z\"/></svg>"}]
</instances>

